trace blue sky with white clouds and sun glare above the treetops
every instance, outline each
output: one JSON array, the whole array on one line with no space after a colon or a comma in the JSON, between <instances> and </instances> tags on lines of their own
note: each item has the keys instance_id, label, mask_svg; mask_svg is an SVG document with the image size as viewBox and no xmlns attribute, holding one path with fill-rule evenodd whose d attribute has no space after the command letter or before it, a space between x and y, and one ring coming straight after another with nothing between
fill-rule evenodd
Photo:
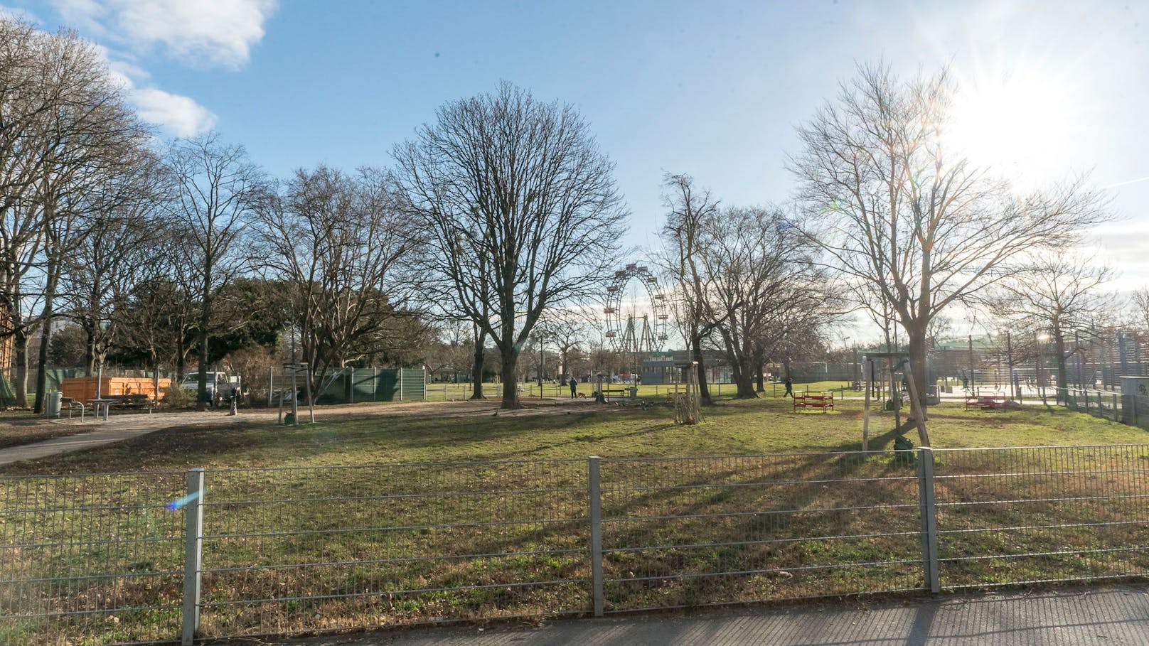
<instances>
[{"instance_id":1,"label":"blue sky with white clouds and sun glare above the treetops","mask_svg":"<svg viewBox=\"0 0 1149 646\"><path fill-rule=\"evenodd\" d=\"M386 166L444 101L500 79L572 102L617 162L629 243L651 245L660 179L785 201L794 128L858 63L949 63L1004 114L976 159L1041 184L1090 171L1125 217L1098 232L1120 287L1149 282L1149 8L1136 2L387 2L0 0L107 48L169 134L214 126L270 172ZM1004 90L1003 90L1004 89ZM982 116L984 118L984 116ZM1127 183L1131 182L1131 183Z\"/></svg>"}]
</instances>

